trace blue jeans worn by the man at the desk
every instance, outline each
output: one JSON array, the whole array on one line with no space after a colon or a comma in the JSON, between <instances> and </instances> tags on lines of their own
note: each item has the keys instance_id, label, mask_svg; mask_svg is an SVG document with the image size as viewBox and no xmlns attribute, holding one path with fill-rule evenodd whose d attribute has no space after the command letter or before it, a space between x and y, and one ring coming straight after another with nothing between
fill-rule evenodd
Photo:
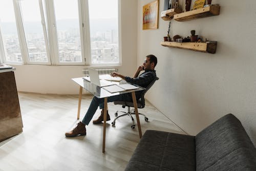
<instances>
[{"instance_id":1,"label":"blue jeans worn by the man at the desk","mask_svg":"<svg viewBox=\"0 0 256 171\"><path fill-rule=\"evenodd\" d=\"M113 102L113 101L133 101L132 94L126 93L126 94L120 94L120 95L108 97L108 102ZM86 115L82 119L82 123L86 125L90 123L90 121L93 118L93 115L98 109L98 106L99 106L99 109L104 109L104 98L97 98L94 96Z\"/></svg>"}]
</instances>

